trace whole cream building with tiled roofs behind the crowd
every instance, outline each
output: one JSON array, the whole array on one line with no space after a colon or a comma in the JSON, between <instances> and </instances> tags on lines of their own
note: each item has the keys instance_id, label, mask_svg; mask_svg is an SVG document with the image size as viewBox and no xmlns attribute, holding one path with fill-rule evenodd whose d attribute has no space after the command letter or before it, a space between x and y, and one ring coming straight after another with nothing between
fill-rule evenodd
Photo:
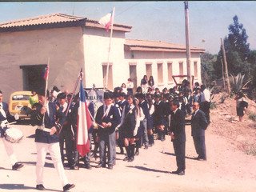
<instances>
[{"instance_id":1,"label":"whole cream building with tiled roofs behind the crowd","mask_svg":"<svg viewBox=\"0 0 256 192\"><path fill-rule=\"evenodd\" d=\"M186 46L167 42L126 39L132 26L114 23L108 89L132 78L140 86L144 74L153 75L155 87L175 86L172 75L186 74ZM98 20L67 14L0 23L0 90L7 97L17 90L44 86L43 71L50 58L49 88L73 90L79 71L84 86L103 87L110 32ZM201 82L200 53L191 47L191 74Z\"/></svg>"}]
</instances>

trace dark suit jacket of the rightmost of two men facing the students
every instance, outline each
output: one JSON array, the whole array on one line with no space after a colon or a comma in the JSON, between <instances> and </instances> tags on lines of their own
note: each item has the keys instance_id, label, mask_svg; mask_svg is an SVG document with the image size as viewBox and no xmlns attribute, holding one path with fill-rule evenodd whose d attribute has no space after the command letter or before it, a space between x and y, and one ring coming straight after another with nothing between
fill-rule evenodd
<instances>
[{"instance_id":1,"label":"dark suit jacket of the rightmost of two men facing the students","mask_svg":"<svg viewBox=\"0 0 256 192\"><path fill-rule=\"evenodd\" d=\"M205 130L208 126L208 122L206 120L206 114L202 112L202 110L198 110L198 112L194 115L192 114L191 118L191 135L192 136L205 136Z\"/></svg>"}]
</instances>

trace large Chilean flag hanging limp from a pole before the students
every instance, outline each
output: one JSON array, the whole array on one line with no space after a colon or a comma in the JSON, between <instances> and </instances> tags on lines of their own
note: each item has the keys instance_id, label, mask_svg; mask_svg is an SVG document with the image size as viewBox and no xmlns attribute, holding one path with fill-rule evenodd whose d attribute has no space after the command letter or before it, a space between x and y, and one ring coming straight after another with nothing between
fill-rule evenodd
<instances>
[{"instance_id":1,"label":"large Chilean flag hanging limp from a pole before the students","mask_svg":"<svg viewBox=\"0 0 256 192\"><path fill-rule=\"evenodd\" d=\"M88 130L91 126L91 118L89 113L88 106L86 105L86 94L83 90L82 80L80 80L77 149L82 157L90 152Z\"/></svg>"}]
</instances>

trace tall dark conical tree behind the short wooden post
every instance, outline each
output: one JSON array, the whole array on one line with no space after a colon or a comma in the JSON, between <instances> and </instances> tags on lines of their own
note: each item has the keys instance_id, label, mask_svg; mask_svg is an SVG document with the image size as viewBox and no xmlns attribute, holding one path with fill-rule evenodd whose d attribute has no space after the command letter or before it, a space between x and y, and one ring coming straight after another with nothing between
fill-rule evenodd
<instances>
[{"instance_id":1,"label":"tall dark conical tree behind the short wooden post","mask_svg":"<svg viewBox=\"0 0 256 192\"><path fill-rule=\"evenodd\" d=\"M226 62L229 73L237 75L245 74L246 79L249 78L250 63L250 44L247 43L248 35L242 23L238 22L238 16L233 18L233 24L229 26L229 34L224 38L224 48L226 51ZM222 76L222 47L218 52L217 62L214 63L214 74L220 78Z\"/></svg>"}]
</instances>

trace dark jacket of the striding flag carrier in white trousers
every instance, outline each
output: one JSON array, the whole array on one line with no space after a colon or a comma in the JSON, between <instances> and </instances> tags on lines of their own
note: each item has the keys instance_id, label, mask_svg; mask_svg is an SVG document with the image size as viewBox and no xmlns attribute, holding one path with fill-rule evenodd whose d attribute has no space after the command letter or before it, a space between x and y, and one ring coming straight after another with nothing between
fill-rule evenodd
<instances>
[{"instance_id":1,"label":"dark jacket of the striding flag carrier in white trousers","mask_svg":"<svg viewBox=\"0 0 256 192\"><path fill-rule=\"evenodd\" d=\"M42 126L43 115L40 112L41 109L42 105L39 102L35 103L32 107L30 119L32 126ZM63 114L62 111L59 110L58 106L53 102L49 102L49 110L50 115L46 113L44 118L45 127L50 129L51 127L55 126L58 132L61 126L63 126L64 122L66 121L65 114ZM58 134L55 133L53 135L50 135L49 132L37 129L35 131L35 142L58 142Z\"/></svg>"}]
</instances>

